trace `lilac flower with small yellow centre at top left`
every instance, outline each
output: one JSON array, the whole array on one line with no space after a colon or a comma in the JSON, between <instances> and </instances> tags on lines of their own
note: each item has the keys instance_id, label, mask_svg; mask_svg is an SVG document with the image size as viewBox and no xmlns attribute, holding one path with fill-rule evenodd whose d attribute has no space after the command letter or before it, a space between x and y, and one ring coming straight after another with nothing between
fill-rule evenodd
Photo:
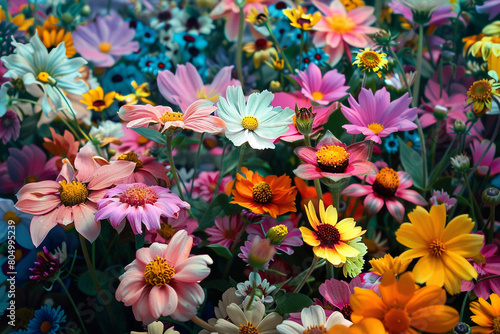
<instances>
[{"instance_id":1,"label":"lilac flower with small yellow centre at top left","mask_svg":"<svg viewBox=\"0 0 500 334\"><path fill-rule=\"evenodd\" d=\"M73 33L76 51L98 67L111 67L122 56L137 51L139 43L134 37L135 30L118 14L98 16Z\"/></svg>"}]
</instances>

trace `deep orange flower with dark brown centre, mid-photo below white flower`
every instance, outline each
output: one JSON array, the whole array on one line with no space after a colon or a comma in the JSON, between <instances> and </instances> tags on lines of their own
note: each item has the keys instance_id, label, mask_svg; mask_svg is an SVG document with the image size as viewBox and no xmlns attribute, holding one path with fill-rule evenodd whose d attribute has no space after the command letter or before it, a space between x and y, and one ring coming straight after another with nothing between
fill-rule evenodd
<instances>
[{"instance_id":1,"label":"deep orange flower with dark brown centre, mid-photo below white flower","mask_svg":"<svg viewBox=\"0 0 500 334\"><path fill-rule=\"evenodd\" d=\"M233 189L233 200L231 203L239 204L253 213L268 213L276 218L287 212L295 212L295 197L297 189L291 186L292 180L282 175L260 176L241 168L241 174L236 176L236 186Z\"/></svg>"}]
</instances>

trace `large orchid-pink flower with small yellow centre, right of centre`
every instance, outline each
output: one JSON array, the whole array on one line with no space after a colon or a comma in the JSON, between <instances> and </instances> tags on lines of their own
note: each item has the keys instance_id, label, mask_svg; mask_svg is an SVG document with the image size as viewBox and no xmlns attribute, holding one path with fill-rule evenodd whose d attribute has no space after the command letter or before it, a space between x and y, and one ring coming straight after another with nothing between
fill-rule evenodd
<instances>
[{"instance_id":1,"label":"large orchid-pink flower with small yellow centre, right of centre","mask_svg":"<svg viewBox=\"0 0 500 334\"><path fill-rule=\"evenodd\" d=\"M383 137L393 132L409 131L417 128L413 120L417 118L417 109L409 108L411 98L408 93L391 102L391 94L384 88L375 95L371 90L361 88L359 104L352 95L349 105L341 106L342 113L351 124L343 125L347 133L362 133L365 140L382 144Z\"/></svg>"}]
</instances>

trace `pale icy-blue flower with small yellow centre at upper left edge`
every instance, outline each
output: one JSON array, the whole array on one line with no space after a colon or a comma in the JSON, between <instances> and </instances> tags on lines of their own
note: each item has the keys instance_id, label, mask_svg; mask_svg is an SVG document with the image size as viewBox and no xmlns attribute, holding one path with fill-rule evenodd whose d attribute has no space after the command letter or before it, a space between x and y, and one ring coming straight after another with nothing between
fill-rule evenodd
<instances>
[{"instance_id":1,"label":"pale icy-blue flower with small yellow centre at upper left edge","mask_svg":"<svg viewBox=\"0 0 500 334\"><path fill-rule=\"evenodd\" d=\"M47 116L53 110L49 99L56 108L63 107L63 99L54 85L75 95L82 95L89 90L83 80L75 81L81 77L78 70L87 61L82 57L68 59L64 43L49 53L38 33L35 33L27 44L12 44L16 46L15 53L2 57L8 69L4 77L22 79L28 91L42 97L42 109Z\"/></svg>"}]
</instances>

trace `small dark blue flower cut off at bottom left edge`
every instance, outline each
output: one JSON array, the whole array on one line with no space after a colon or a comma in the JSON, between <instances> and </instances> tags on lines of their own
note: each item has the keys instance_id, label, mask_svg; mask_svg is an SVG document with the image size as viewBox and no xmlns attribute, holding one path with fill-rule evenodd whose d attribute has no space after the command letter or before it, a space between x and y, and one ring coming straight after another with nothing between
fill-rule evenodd
<instances>
[{"instance_id":1,"label":"small dark blue flower cut off at bottom left edge","mask_svg":"<svg viewBox=\"0 0 500 334\"><path fill-rule=\"evenodd\" d=\"M62 323L66 322L66 315L61 306L56 309L49 305L42 306L35 311L26 331L28 334L56 334Z\"/></svg>"}]
</instances>

